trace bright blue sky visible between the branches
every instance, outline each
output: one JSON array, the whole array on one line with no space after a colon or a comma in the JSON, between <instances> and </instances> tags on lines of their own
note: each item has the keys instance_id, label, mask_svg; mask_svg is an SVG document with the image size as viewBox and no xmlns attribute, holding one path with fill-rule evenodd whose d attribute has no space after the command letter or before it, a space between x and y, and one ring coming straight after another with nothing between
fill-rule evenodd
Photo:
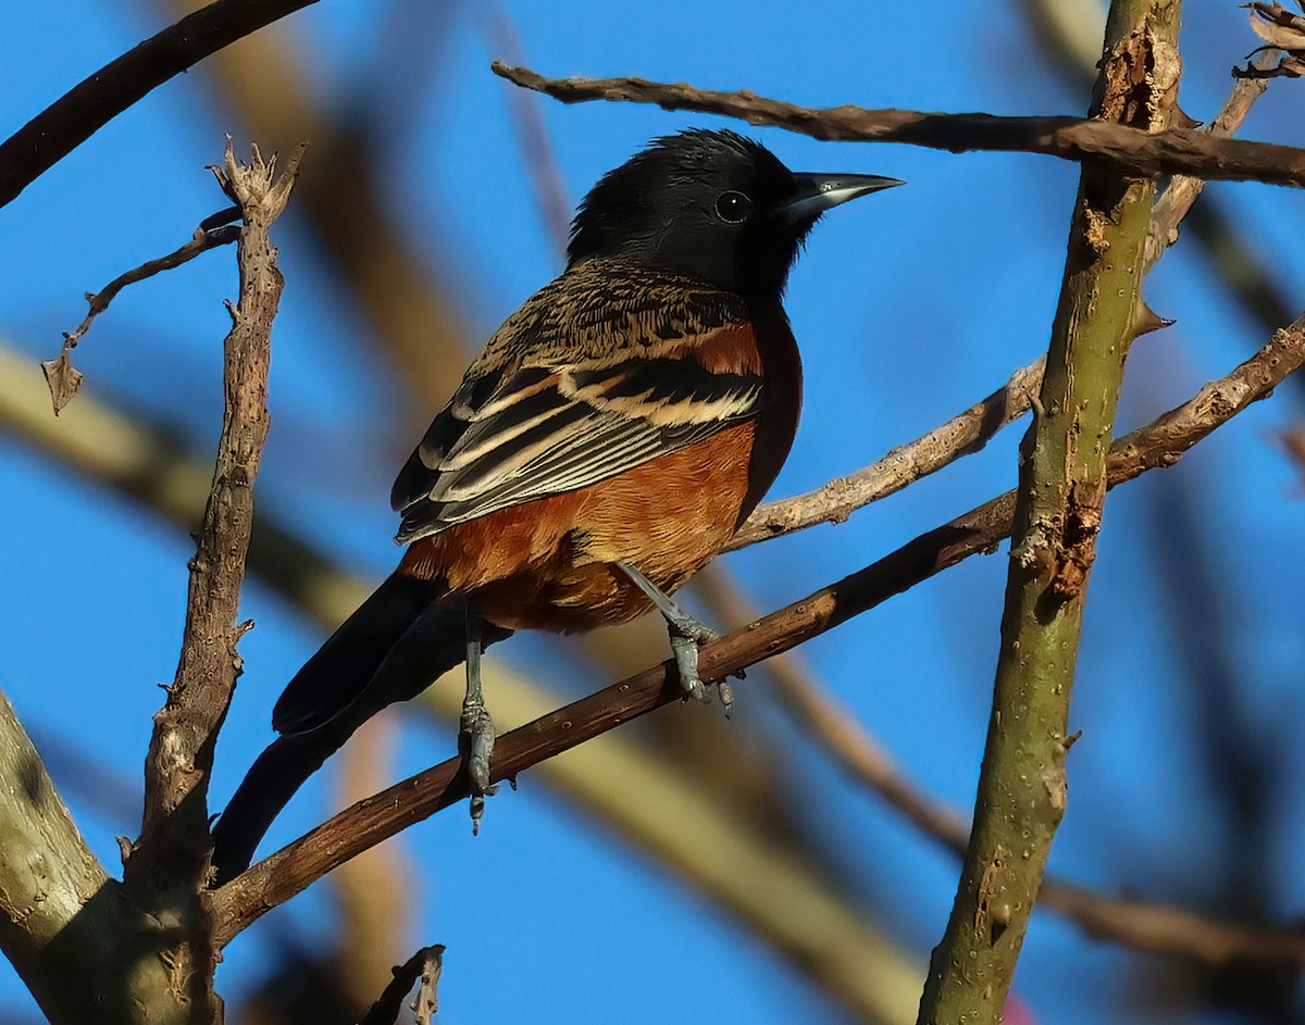
<instances>
[{"instance_id":1,"label":"bright blue sky visible between the branches","mask_svg":"<svg viewBox=\"0 0 1305 1025\"><path fill-rule=\"evenodd\" d=\"M282 25L325 104L345 108L372 95L377 48L385 44L378 12L390 7L324 0ZM428 87L392 95L411 121L402 133L380 132L386 189L411 240L462 300L470 335L484 338L557 273L557 253L521 171L508 86L488 72L497 53L470 5L440 18L420 16L419 4L403 7L414 31L438 29L444 37L411 46L437 61ZM1181 102L1206 119L1228 90L1228 67L1255 40L1235 4L1188 7ZM814 106L1073 113L1086 102L1039 57L1019 7L997 0L945 12L590 0L505 9L527 63L552 74L632 73L749 87ZM18 128L163 17L161 8L97 0L16 0L3 16L0 132ZM394 78L403 82L406 74ZM1244 134L1305 145L1300 90L1275 85ZM572 201L649 137L724 124L626 104L545 102L542 110ZM59 333L81 318L82 292L188 237L221 205L202 167L218 159L228 130L243 137L201 67L157 90L0 210L0 340L33 359L48 357ZM776 496L817 486L919 436L1045 348L1077 167L1026 155L829 145L771 129L750 134L797 170L910 183L827 218L792 275L787 306L804 347L806 408ZM305 173L313 173L312 151ZM1232 184L1211 193L1244 227L1288 304L1300 308L1302 197ZM274 336L274 428L260 502L378 576L395 559L386 496L405 453L386 416L399 386L381 368L363 318L341 296L313 236L294 219L279 227L290 284ZM90 387L211 447L227 323L221 301L234 291L227 253L129 290L78 351ZM1266 338L1228 303L1190 244L1165 258L1146 293L1178 323L1143 339L1131 357L1121 407L1128 428L1225 373ZM1241 735L1271 746L1276 759L1275 832L1263 852L1270 910L1280 922L1300 917L1305 880L1293 852L1305 839L1301 764L1280 735L1282 724L1298 722L1302 712L1305 505L1300 480L1274 442L1275 432L1300 416L1300 389L1284 387L1176 469L1112 494L1075 691L1074 726L1084 739L1070 762L1070 810L1052 855L1054 871L1109 892L1135 888L1201 906L1210 896L1206 880L1224 869L1229 825L1211 798L1219 765L1197 729L1184 659L1191 642L1174 632L1167 614L1164 580L1172 570L1158 559L1172 526L1167 503L1177 502L1220 582L1218 622L1237 666L1229 700L1246 724ZM792 601L1010 486L1017 437L1018 429L1009 432L844 526L756 546L728 565L757 604ZM159 703L155 683L175 669L191 541L7 437L0 437L0 493L7 539L0 687L34 730L94 752L134 781ZM817 677L925 790L966 810L987 721L1002 583L1002 556L971 561L804 649ZM321 639L257 582L245 606L258 626L241 644L247 674L219 749L217 795L230 793L268 741L275 694ZM574 692L573 662L549 669L544 655L552 651L517 639L500 657L543 666L560 691ZM955 866L763 707L749 712L746 685L737 692L741 728L761 725L758 737L792 752L810 820L820 823L847 879L848 900L872 908L923 962L941 935ZM748 716L761 722L749 724ZM444 732L406 730L397 771L422 768L448 750ZM274 840L318 820L326 799L324 786L312 786ZM85 802L73 801L73 811L112 870L114 835L134 832L134 824ZM423 866L411 945L450 947L441 1021L552 1021L577 1012L612 1022L838 1020L837 1008L778 955L529 776L521 792L492 803L489 816L475 840L461 814L436 816L406 839ZM219 975L228 996L239 999L257 975L274 931L311 940L330 921L322 889L278 913L277 927L232 944ZM1129 994L1137 964L1039 915L1017 992L1039 1021L1165 1020L1163 1007ZM0 1017L7 1008L30 1007L21 985L0 969ZM1178 1008L1173 1013L1185 1013Z\"/></svg>"}]
</instances>

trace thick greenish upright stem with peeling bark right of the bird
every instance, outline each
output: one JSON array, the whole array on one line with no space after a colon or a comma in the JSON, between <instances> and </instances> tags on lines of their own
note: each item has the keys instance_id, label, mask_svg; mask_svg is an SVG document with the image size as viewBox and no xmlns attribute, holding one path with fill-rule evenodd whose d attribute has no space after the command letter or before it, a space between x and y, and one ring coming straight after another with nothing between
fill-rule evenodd
<instances>
[{"instance_id":1,"label":"thick greenish upright stem with peeling bark right of the bird","mask_svg":"<svg viewBox=\"0 0 1305 1025\"><path fill-rule=\"evenodd\" d=\"M1159 130L1178 86L1177 0L1114 0L1094 115ZM974 829L920 1025L1001 1021L1065 814L1069 699L1105 501L1155 183L1083 166L1060 305L1024 438L992 719Z\"/></svg>"}]
</instances>

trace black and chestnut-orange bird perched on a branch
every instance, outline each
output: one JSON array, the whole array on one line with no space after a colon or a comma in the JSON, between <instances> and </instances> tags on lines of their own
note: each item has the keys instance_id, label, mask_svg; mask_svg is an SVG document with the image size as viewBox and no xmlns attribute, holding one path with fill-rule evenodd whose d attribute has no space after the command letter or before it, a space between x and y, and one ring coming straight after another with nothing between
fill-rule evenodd
<instances>
[{"instance_id":1,"label":"black and chestnut-orange bird perched on a branch","mask_svg":"<svg viewBox=\"0 0 1305 1025\"><path fill-rule=\"evenodd\" d=\"M709 700L697 656L714 634L671 595L724 548L792 445L790 269L825 211L900 184L793 172L760 142L701 128L599 179L562 274L489 338L399 471L406 550L275 703L281 737L213 829L219 880L248 866L354 730L459 662L479 824L493 747L480 653L513 631L656 609L685 695Z\"/></svg>"}]
</instances>

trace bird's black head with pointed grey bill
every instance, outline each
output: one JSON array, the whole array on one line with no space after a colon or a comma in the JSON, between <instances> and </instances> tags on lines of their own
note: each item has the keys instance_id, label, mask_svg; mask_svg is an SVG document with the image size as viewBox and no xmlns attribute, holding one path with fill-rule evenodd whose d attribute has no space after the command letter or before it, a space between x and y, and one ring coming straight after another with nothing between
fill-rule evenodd
<instances>
[{"instance_id":1,"label":"bird's black head with pointed grey bill","mask_svg":"<svg viewBox=\"0 0 1305 1025\"><path fill-rule=\"evenodd\" d=\"M825 210L900 184L793 173L758 142L690 129L654 140L603 175L572 223L566 266L622 257L748 299L778 299Z\"/></svg>"}]
</instances>

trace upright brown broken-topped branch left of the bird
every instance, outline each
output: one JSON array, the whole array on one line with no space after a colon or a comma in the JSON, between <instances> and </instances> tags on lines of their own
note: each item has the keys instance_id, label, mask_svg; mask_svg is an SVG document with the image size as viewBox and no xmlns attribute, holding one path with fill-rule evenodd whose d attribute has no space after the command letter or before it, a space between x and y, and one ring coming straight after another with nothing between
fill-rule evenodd
<instances>
[{"instance_id":1,"label":"upright brown broken-topped branch left of the bird","mask_svg":"<svg viewBox=\"0 0 1305 1025\"><path fill-rule=\"evenodd\" d=\"M269 426L271 322L283 286L269 232L290 198L299 155L278 175L275 162L265 162L257 147L249 164L238 163L227 140L223 167L214 168L244 220L238 244L240 295L224 343L222 433L191 559L181 655L167 702L154 716L141 836L125 861L124 883L144 906L159 902L179 914L184 904L179 895L194 895L193 914L181 914L175 960L197 1021L217 1013L213 949L197 902L209 859L206 794L217 734L241 672L236 644L251 626L236 618L253 524L253 483Z\"/></svg>"}]
</instances>

